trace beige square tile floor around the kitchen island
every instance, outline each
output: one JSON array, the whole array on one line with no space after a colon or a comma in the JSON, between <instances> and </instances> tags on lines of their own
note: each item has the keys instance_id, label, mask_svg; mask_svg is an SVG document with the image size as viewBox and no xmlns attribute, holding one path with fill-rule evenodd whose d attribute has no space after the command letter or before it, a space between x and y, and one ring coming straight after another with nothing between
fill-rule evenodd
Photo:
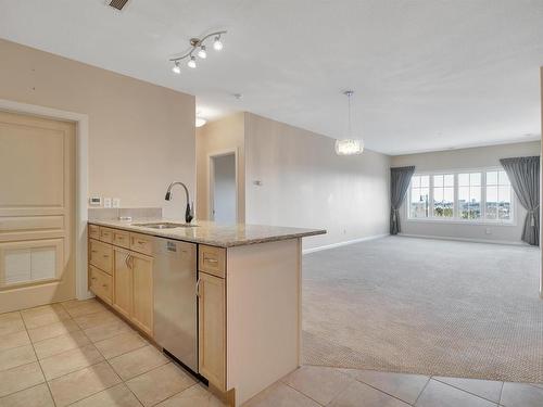
<instances>
[{"instance_id":1,"label":"beige square tile floor around the kitchen island","mask_svg":"<svg viewBox=\"0 0 543 407\"><path fill-rule=\"evenodd\" d=\"M94 300L0 315L0 407L223 407ZM304 366L245 407L541 407L543 384Z\"/></svg>"}]
</instances>

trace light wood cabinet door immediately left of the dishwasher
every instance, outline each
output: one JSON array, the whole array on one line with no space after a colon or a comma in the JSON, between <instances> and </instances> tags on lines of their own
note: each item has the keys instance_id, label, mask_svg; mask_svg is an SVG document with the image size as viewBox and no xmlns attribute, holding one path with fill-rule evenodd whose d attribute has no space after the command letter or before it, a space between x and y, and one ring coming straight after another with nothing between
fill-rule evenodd
<instances>
[{"instance_id":1,"label":"light wood cabinet door immediately left of the dishwasher","mask_svg":"<svg viewBox=\"0 0 543 407\"><path fill-rule=\"evenodd\" d=\"M134 302L131 320L149 335L153 335L153 259L130 253Z\"/></svg>"}]
</instances>

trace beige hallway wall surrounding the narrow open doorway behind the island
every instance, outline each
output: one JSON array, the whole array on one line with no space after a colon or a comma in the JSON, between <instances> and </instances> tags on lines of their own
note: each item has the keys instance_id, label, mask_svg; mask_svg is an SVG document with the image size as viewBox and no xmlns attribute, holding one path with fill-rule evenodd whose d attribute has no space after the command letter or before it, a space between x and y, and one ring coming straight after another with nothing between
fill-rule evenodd
<instances>
[{"instance_id":1,"label":"beige hallway wall surrounding the narrow open doorway behind the island","mask_svg":"<svg viewBox=\"0 0 543 407\"><path fill-rule=\"evenodd\" d=\"M198 219L209 219L210 155L235 150L238 154L238 221L245 219L244 113L237 113L197 129Z\"/></svg>"}]
</instances>

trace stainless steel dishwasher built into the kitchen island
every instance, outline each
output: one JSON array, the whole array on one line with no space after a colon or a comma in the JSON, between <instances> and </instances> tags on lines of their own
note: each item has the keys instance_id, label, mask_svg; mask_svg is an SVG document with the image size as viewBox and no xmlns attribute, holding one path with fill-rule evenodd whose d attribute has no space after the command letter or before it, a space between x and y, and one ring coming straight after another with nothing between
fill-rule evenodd
<instances>
[{"instance_id":1,"label":"stainless steel dishwasher built into the kitchen island","mask_svg":"<svg viewBox=\"0 0 543 407\"><path fill-rule=\"evenodd\" d=\"M154 238L154 336L198 373L197 245Z\"/></svg>"}]
</instances>

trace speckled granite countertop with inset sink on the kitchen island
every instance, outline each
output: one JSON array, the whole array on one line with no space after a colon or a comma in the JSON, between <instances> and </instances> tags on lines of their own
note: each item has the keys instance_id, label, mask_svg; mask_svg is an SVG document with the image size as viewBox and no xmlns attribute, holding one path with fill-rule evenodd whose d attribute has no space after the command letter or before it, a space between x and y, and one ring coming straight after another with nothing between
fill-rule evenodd
<instances>
[{"instance_id":1,"label":"speckled granite countertop with inset sink on the kitchen island","mask_svg":"<svg viewBox=\"0 0 543 407\"><path fill-rule=\"evenodd\" d=\"M156 236L175 240L184 240L194 243L203 243L219 247L232 247L247 244L256 244L264 242L273 242L277 240L287 240L295 238L305 238L316 234L325 234L324 229L301 229L287 228L277 226L264 225L245 225L238 224L231 226L217 225L207 220L193 220L191 225L198 225L191 228L175 228L175 229L152 229L137 224L151 222L175 222L185 224L178 219L157 219L157 218L140 218L126 220L89 220L89 224L105 226L110 228L124 229L132 232Z\"/></svg>"}]
</instances>

